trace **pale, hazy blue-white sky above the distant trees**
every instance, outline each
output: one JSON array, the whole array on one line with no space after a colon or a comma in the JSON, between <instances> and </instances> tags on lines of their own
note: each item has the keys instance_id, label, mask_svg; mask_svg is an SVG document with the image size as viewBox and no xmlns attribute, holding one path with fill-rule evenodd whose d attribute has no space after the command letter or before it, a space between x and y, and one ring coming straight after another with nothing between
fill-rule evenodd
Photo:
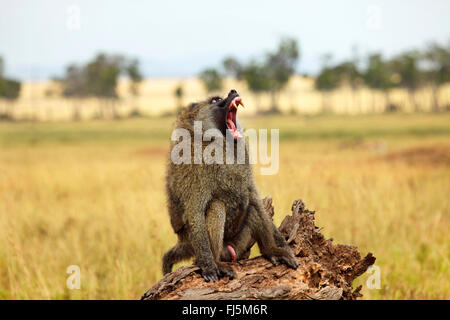
<instances>
[{"instance_id":1,"label":"pale, hazy blue-white sky above the distant trees","mask_svg":"<svg viewBox=\"0 0 450 320\"><path fill-rule=\"evenodd\" d=\"M387 56L450 40L448 0L0 0L0 56L20 80L62 75L98 52L138 58L146 77L189 77L226 56L261 58L298 40L300 73L321 57Z\"/></svg>"}]
</instances>

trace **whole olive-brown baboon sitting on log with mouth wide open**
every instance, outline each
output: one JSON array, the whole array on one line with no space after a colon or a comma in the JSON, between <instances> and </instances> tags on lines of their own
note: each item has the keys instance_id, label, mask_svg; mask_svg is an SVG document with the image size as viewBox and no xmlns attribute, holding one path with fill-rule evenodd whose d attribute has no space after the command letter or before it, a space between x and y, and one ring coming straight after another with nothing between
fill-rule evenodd
<instances>
[{"instance_id":1,"label":"whole olive-brown baboon sitting on log with mouth wide open","mask_svg":"<svg viewBox=\"0 0 450 320\"><path fill-rule=\"evenodd\" d=\"M236 121L239 105L243 106L243 102L236 90L224 99L212 97L192 103L180 110L175 128L186 129L193 137L194 121L201 121L203 132L215 128L225 138L228 131L236 156L237 141L243 139L245 144ZM176 143L172 142L172 148ZM205 146L203 142L202 148ZM193 152L191 155L192 160ZM248 258L255 240L263 256L272 263L297 268L291 249L264 209L248 152L243 164L226 164L225 160L223 164L194 164L193 160L174 164L169 156L166 189L178 243L163 257L164 274L171 272L174 263L195 257L194 263L207 282L215 282L219 277L233 278L234 271L225 262Z\"/></svg>"}]
</instances>

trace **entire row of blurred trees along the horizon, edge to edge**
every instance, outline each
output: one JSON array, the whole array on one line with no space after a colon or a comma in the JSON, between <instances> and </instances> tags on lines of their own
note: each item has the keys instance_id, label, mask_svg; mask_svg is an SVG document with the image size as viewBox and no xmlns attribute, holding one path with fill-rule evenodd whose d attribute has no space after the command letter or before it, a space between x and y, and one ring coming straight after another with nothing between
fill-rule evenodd
<instances>
[{"instance_id":1,"label":"entire row of blurred trees along the horizon, edge to edge","mask_svg":"<svg viewBox=\"0 0 450 320\"><path fill-rule=\"evenodd\" d=\"M298 74L299 60L298 42L293 38L283 38L274 50L259 58L244 62L229 56L223 59L219 67L206 68L198 77L209 94L224 91L225 77L242 81L256 97L257 107L261 105L262 94L266 94L271 98L270 109L266 112L278 113L280 92ZM131 96L138 96L139 83L143 79L139 61L123 55L99 53L85 64L68 65L64 74L53 80L61 95L71 101L73 119L81 118L83 99L86 98L99 100L98 118L117 118L117 84L121 76L129 78ZM414 111L420 111L416 92L425 86L431 88L432 111L438 112L448 107L441 106L438 97L442 86L450 81L450 41L446 45L431 43L422 50L409 50L390 58L381 53L371 53L361 58L354 50L351 59L332 63L331 55L326 54L322 57L320 71L313 79L315 89L322 95L322 112L332 111L330 96L340 87L350 88L354 104L359 106L361 103L355 99L361 88L382 93L385 97L384 111L399 109L391 102L390 93L394 88L403 88ZM4 61L0 57L0 98L8 106L4 112L0 109L2 118L12 118L13 101L19 97L20 89L19 81L4 76ZM178 107L182 106L184 95L180 84L174 90ZM371 110L375 112L375 106Z\"/></svg>"}]
</instances>

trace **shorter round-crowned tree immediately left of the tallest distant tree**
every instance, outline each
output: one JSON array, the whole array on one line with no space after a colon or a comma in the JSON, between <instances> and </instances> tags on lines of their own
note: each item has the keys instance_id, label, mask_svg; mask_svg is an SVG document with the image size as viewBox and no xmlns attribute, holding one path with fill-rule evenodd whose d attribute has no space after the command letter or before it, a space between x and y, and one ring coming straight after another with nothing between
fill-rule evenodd
<instances>
[{"instance_id":1,"label":"shorter round-crowned tree immediately left of the tallest distant tree","mask_svg":"<svg viewBox=\"0 0 450 320\"><path fill-rule=\"evenodd\" d=\"M270 78L264 65L258 64L256 61L250 62L241 73L242 78L247 83L248 89L255 95L256 108L261 112L260 96L263 92L270 90Z\"/></svg>"}]
</instances>

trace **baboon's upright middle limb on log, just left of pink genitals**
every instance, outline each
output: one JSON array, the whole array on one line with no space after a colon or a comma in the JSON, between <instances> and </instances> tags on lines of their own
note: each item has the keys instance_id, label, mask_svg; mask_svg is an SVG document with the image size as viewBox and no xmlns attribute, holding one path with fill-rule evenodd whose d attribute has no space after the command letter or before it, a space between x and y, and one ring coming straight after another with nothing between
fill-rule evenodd
<instances>
[{"instance_id":1,"label":"baboon's upright middle limb on log, just left of pink genitals","mask_svg":"<svg viewBox=\"0 0 450 320\"><path fill-rule=\"evenodd\" d=\"M206 212L206 228L214 260L221 276L234 277L233 269L220 261L223 250L223 235L226 221L225 205L222 201L213 200Z\"/></svg>"}]
</instances>

